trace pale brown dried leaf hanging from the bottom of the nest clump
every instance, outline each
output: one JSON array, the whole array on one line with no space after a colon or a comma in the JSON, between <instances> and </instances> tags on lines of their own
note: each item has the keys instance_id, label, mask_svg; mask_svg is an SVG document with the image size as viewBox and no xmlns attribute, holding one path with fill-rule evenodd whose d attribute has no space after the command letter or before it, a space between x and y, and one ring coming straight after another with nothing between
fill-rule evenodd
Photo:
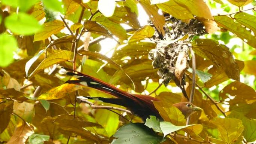
<instances>
[{"instance_id":1,"label":"pale brown dried leaf hanging from the bottom of the nest clump","mask_svg":"<svg viewBox=\"0 0 256 144\"><path fill-rule=\"evenodd\" d=\"M188 65L188 59L186 57L186 53L185 52L180 52L178 57L177 57L177 61L175 64L175 70L174 70L174 74L176 77L178 86L180 87L182 84L182 78L185 74L185 71L188 69L189 65Z\"/></svg>"}]
</instances>

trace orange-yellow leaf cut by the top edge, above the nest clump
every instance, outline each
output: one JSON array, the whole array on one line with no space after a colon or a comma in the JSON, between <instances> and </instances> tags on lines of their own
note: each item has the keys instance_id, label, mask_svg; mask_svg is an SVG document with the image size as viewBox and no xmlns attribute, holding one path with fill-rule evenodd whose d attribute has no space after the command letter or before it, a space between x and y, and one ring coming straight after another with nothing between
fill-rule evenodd
<instances>
[{"instance_id":1,"label":"orange-yellow leaf cut by the top edge, above the nest clump","mask_svg":"<svg viewBox=\"0 0 256 144\"><path fill-rule=\"evenodd\" d=\"M207 4L203 0L174 0L177 4L185 7L193 15L205 18L213 19L211 12Z\"/></svg>"}]
</instances>

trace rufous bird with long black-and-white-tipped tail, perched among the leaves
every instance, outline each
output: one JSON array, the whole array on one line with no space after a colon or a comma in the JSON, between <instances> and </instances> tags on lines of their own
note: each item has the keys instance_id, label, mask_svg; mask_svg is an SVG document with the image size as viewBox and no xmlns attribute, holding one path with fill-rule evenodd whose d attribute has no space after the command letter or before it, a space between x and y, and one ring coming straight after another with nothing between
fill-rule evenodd
<instances>
[{"instance_id":1,"label":"rufous bird with long black-and-white-tipped tail, perched among the leaves","mask_svg":"<svg viewBox=\"0 0 256 144\"><path fill-rule=\"evenodd\" d=\"M70 71L67 68L64 68ZM102 80L97 78L88 76L83 73L71 73L67 72L67 75L76 77L78 80L68 80L65 83L73 83L82 86L88 86L107 94L111 94L116 98L101 98L97 97L99 100L111 104L122 105L127 107L132 113L136 114L137 116L141 117L144 121L147 119L148 116L156 116L159 119L162 119L158 110L156 110L152 101L159 101L159 99L154 98L152 96L147 95L137 95L137 94L129 94L121 89L116 88L113 85L110 85ZM88 99L92 99L92 97L86 97ZM202 108L196 107L190 102L178 102L173 104L173 106L177 107L185 117L190 116L195 111L202 111Z\"/></svg>"}]
</instances>

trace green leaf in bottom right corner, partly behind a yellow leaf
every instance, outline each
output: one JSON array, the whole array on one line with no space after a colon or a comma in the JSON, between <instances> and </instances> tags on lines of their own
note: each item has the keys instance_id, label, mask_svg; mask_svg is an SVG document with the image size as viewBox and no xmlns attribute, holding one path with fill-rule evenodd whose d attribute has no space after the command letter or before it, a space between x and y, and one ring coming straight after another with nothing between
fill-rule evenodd
<instances>
[{"instance_id":1,"label":"green leaf in bottom right corner, partly behind a yellow leaf","mask_svg":"<svg viewBox=\"0 0 256 144\"><path fill-rule=\"evenodd\" d=\"M244 125L243 136L246 139L246 142L250 143L256 140L256 120L255 119L248 119L247 117L243 116L243 114L231 111L231 114L228 117L240 119Z\"/></svg>"}]
</instances>

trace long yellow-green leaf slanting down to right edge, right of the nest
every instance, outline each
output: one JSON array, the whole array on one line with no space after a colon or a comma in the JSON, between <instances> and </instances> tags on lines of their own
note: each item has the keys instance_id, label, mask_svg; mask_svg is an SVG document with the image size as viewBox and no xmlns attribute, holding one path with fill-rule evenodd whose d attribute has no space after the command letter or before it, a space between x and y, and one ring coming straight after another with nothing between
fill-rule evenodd
<instances>
[{"instance_id":1,"label":"long yellow-green leaf slanting down to right edge, right of the nest","mask_svg":"<svg viewBox=\"0 0 256 144\"><path fill-rule=\"evenodd\" d=\"M242 27L241 24L234 22L234 20L228 16L214 16L214 20L220 27L231 31L248 45L256 48L256 37L252 36L251 32Z\"/></svg>"}]
</instances>

